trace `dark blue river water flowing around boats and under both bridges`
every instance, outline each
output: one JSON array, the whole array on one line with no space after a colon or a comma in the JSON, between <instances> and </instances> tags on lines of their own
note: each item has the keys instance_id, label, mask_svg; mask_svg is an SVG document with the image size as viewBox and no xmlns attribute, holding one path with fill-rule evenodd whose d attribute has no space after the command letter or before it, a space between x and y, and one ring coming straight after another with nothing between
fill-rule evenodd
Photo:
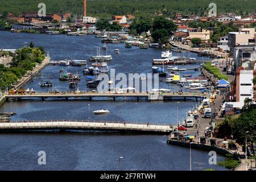
<instances>
[{"instance_id":1,"label":"dark blue river water flowing around boats and under both bridges","mask_svg":"<svg viewBox=\"0 0 256 182\"><path fill-rule=\"evenodd\" d=\"M51 55L51 60L82 59L96 55L100 39L93 35L67 36L43 34L16 34L0 32L0 48L20 48L34 42ZM119 54L114 49L120 50ZM151 60L159 59L162 49L125 48L123 44L108 44L108 54L113 56L110 68L116 73L151 73ZM197 57L195 53L175 53ZM88 61L89 63L89 61ZM90 63L89 63L90 64ZM199 65L184 65L180 68L198 68ZM52 80L53 89L69 90L67 82L59 81L60 66L48 65L26 84L38 92L49 91L39 87L40 77ZM64 67L65 72L78 72L82 67ZM200 72L184 71L183 75L197 76ZM180 90L180 86L159 82L159 88ZM80 90L86 88L85 76L79 82ZM88 104L90 106L88 106ZM195 100L180 100L178 113L180 119L185 111L196 106ZM176 123L176 100L149 102L146 100L11 100L0 107L0 111L17 113L12 120L20 119L92 119L101 121L129 121L151 123ZM92 111L108 109L109 115L93 115ZM124 170L188 170L189 148L171 146L166 143L167 135L120 134L100 132L79 133L19 133L0 134L1 170L118 170L119 157L123 156ZM47 164L38 164L38 152L45 151ZM225 170L208 163L208 152L192 150L192 169L213 168ZM224 156L217 156L221 161Z\"/></svg>"}]
</instances>

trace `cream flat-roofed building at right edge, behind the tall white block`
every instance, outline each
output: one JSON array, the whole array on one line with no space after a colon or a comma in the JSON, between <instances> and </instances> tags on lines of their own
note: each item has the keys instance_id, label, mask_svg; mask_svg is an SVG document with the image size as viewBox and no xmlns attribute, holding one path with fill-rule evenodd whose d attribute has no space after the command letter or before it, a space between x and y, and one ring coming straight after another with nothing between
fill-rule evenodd
<instances>
[{"instance_id":1,"label":"cream flat-roofed building at right edge, behind the tall white block","mask_svg":"<svg viewBox=\"0 0 256 182\"><path fill-rule=\"evenodd\" d=\"M228 46L233 51L234 46L254 45L255 28L240 28L238 32L228 33Z\"/></svg>"}]
</instances>

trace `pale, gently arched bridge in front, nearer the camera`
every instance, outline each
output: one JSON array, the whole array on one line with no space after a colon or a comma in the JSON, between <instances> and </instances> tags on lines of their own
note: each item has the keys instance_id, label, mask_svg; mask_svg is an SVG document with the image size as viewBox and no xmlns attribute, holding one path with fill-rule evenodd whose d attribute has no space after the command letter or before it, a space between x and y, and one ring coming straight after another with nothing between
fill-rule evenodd
<instances>
[{"instance_id":1,"label":"pale, gently arched bridge in front, nearer the camera","mask_svg":"<svg viewBox=\"0 0 256 182\"><path fill-rule=\"evenodd\" d=\"M11 121L0 123L0 132L22 131L65 131L65 130L94 130L118 131L134 133L170 134L173 128L167 124L109 122L109 121L77 121L77 120L49 120L49 121Z\"/></svg>"}]
</instances>

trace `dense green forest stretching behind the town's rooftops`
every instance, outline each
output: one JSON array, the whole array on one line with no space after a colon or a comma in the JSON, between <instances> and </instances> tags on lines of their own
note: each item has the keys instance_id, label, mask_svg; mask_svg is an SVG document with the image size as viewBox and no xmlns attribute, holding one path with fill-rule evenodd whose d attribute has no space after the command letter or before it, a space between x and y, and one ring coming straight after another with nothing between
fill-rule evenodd
<instances>
[{"instance_id":1,"label":"dense green forest stretching behind the town's rooftops","mask_svg":"<svg viewBox=\"0 0 256 182\"><path fill-rule=\"evenodd\" d=\"M82 15L82 0L0 0L0 12L20 14L24 11L38 11L38 4L44 2L47 13L71 12ZM210 2L217 4L217 13L236 12L246 15L253 13L256 0L87 0L88 15L106 17L114 14L154 15L175 13L204 15Z\"/></svg>"}]
</instances>

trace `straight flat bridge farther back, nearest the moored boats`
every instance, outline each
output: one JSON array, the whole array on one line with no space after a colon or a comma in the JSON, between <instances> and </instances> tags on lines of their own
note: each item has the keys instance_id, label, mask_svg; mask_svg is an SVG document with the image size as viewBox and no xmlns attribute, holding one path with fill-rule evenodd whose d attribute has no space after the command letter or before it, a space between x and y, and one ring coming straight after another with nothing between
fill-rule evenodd
<instances>
[{"instance_id":1,"label":"straight flat bridge farther back, nearest the moored boats","mask_svg":"<svg viewBox=\"0 0 256 182\"><path fill-rule=\"evenodd\" d=\"M147 98L148 100L166 100L168 98L181 98L186 100L187 98L198 98L203 99L207 98L207 94L201 94L201 93L161 93L161 94L152 94L152 93L90 93L90 92L63 92L63 93L26 93L26 94L7 94L5 95L7 99L9 98L17 98L20 99L35 99L39 98L43 101L46 98L64 98L68 100L68 98L89 98L89 100L92 100L94 97L108 97L113 98L115 101L115 98L117 97L123 97L125 100L127 97L131 98L137 98L137 101L139 101L139 98Z\"/></svg>"}]
</instances>

